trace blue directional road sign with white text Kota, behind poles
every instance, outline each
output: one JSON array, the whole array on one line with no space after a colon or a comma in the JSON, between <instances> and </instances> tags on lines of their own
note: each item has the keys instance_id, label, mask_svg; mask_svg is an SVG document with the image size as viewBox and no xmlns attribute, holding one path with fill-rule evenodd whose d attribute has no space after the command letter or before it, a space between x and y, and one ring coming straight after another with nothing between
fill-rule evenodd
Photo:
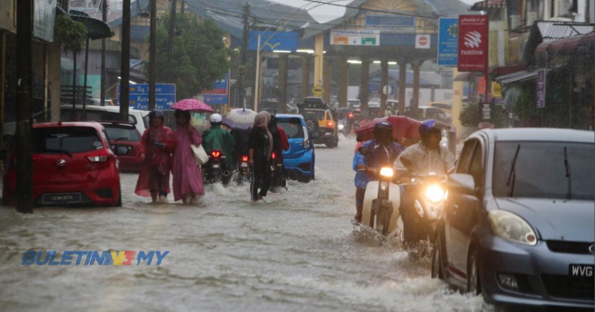
<instances>
[{"instance_id":1,"label":"blue directional road sign with white text Kota, behind poles","mask_svg":"<svg viewBox=\"0 0 595 312\"><path fill-rule=\"evenodd\" d=\"M120 105L120 84L118 84L118 105ZM158 83L155 84L155 109L171 109L176 103L176 84ZM130 85L129 96L130 108L149 110L149 84L139 83Z\"/></svg>"}]
</instances>

